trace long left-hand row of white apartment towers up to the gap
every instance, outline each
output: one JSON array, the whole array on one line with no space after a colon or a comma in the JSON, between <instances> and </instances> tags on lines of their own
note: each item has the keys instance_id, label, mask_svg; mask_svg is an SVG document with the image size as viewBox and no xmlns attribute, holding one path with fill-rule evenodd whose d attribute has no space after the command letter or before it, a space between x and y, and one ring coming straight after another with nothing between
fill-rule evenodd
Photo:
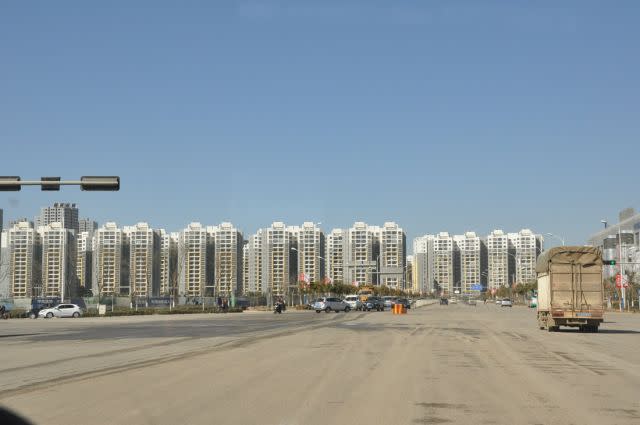
<instances>
[{"instance_id":1,"label":"long left-hand row of white apartment towers up to the gap","mask_svg":"<svg viewBox=\"0 0 640 425\"><path fill-rule=\"evenodd\" d=\"M393 222L357 222L326 237L312 222L274 222L248 240L231 223L171 233L147 223L42 224L18 220L2 232L0 296L280 296L321 281L406 287L406 236Z\"/></svg>"}]
</instances>

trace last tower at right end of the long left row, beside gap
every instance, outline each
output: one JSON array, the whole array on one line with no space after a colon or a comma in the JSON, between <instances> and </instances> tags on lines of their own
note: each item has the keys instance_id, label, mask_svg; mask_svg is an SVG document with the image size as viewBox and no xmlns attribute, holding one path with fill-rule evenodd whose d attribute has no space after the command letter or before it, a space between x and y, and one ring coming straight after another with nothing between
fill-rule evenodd
<instances>
[{"instance_id":1,"label":"last tower at right end of the long left row, beside gap","mask_svg":"<svg viewBox=\"0 0 640 425\"><path fill-rule=\"evenodd\" d=\"M379 282L395 289L404 289L406 266L406 235L394 222L384 223L378 231L380 244Z\"/></svg>"}]
</instances>

